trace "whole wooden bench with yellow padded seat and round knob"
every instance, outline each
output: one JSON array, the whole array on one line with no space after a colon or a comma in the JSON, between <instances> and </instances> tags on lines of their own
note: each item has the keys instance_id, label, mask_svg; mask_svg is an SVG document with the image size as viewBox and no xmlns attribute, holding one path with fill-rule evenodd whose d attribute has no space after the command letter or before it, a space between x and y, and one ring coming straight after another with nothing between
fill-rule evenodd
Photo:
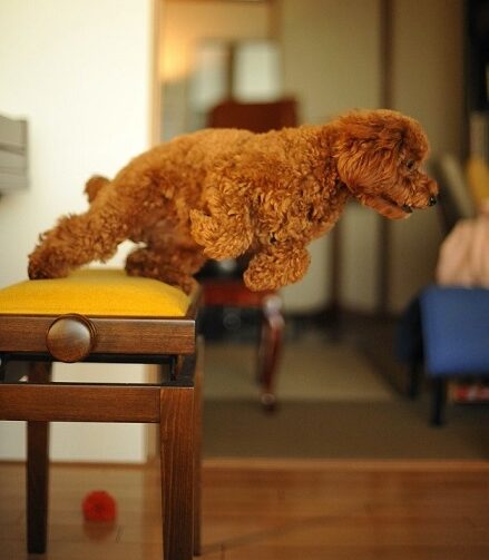
<instances>
[{"instance_id":1,"label":"whole wooden bench with yellow padded seat and round knob","mask_svg":"<svg viewBox=\"0 0 489 560\"><path fill-rule=\"evenodd\" d=\"M0 291L0 420L27 421L29 552L47 548L49 422L79 421L159 423L164 560L199 553L198 301L110 269ZM115 364L114 383L53 382L55 361ZM118 363L157 364L159 380L117 383Z\"/></svg>"}]
</instances>

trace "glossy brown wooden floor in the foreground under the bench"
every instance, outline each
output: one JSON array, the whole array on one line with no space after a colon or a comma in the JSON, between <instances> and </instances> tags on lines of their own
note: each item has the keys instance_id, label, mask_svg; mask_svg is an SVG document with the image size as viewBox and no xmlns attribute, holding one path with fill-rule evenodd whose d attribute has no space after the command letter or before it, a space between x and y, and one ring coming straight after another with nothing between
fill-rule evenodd
<instances>
[{"instance_id":1,"label":"glossy brown wooden floor in the foreground under the bench","mask_svg":"<svg viewBox=\"0 0 489 560\"><path fill-rule=\"evenodd\" d=\"M489 464L209 460L205 560L489 559ZM25 471L0 463L0 558L25 552ZM118 502L115 525L84 524L91 490ZM46 560L162 558L156 465L51 468Z\"/></svg>"}]
</instances>

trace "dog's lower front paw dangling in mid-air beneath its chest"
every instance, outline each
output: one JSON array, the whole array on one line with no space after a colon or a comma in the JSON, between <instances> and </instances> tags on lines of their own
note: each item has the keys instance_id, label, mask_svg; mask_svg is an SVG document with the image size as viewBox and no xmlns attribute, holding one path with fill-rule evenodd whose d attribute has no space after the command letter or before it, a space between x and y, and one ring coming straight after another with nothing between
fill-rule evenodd
<instances>
[{"instance_id":1,"label":"dog's lower front paw dangling in mid-air beneath its chest","mask_svg":"<svg viewBox=\"0 0 489 560\"><path fill-rule=\"evenodd\" d=\"M254 255L244 273L250 289L277 289L301 279L311 257L303 245L293 242L267 245Z\"/></svg>"}]
</instances>

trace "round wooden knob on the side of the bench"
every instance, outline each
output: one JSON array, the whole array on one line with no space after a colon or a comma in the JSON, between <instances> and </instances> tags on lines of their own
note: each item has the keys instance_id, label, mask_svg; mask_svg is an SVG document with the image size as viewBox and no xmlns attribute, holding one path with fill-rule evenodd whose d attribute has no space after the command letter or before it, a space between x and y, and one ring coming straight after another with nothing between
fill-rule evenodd
<instances>
[{"instance_id":1,"label":"round wooden knob on the side of the bench","mask_svg":"<svg viewBox=\"0 0 489 560\"><path fill-rule=\"evenodd\" d=\"M51 323L46 344L59 362L78 362L86 357L95 344L95 327L81 315L62 315Z\"/></svg>"}]
</instances>

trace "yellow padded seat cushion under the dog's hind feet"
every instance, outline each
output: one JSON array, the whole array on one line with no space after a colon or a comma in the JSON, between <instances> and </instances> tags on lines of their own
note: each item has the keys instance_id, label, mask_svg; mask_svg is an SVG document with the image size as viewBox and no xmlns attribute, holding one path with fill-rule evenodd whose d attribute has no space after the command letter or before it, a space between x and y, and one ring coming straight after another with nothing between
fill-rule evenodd
<instances>
[{"instance_id":1,"label":"yellow padded seat cushion under the dog's hind feet","mask_svg":"<svg viewBox=\"0 0 489 560\"><path fill-rule=\"evenodd\" d=\"M67 278L26 281L0 289L0 314L185 316L189 297L151 278L87 268Z\"/></svg>"}]
</instances>

